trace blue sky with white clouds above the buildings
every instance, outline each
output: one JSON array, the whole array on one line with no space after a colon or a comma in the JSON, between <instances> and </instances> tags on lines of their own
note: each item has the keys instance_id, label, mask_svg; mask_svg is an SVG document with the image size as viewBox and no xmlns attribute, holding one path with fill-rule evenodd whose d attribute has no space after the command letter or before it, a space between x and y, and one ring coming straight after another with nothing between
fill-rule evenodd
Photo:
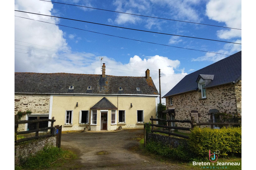
<instances>
[{"instance_id":1,"label":"blue sky with white clouds above the buildings","mask_svg":"<svg viewBox=\"0 0 256 170\"><path fill-rule=\"evenodd\" d=\"M55 0L53 2L158 18L241 29L241 0ZM78 19L111 26L241 43L241 30L134 16L40 0L15 0L15 10ZM15 72L145 76L146 69L164 96L185 75L241 50L240 44L141 32L15 11ZM84 30L73 29L75 27ZM167 47L191 48L207 53ZM165 103L165 100L162 99Z\"/></svg>"}]
</instances>

